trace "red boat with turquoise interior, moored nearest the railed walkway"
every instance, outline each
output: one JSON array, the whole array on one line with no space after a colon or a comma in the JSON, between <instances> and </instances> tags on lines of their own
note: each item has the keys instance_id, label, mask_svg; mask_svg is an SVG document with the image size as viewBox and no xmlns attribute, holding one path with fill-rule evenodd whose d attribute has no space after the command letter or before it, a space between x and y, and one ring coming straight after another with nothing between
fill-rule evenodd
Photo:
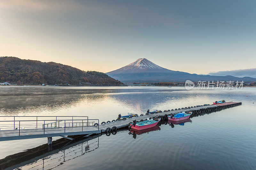
<instances>
[{"instance_id":1,"label":"red boat with turquoise interior, moored nearest the railed walkway","mask_svg":"<svg viewBox=\"0 0 256 170\"><path fill-rule=\"evenodd\" d=\"M155 118L155 119L149 119L142 122L136 122L133 121L133 123L130 123L130 127L132 130L142 130L142 129L148 129L156 126L158 122L160 122L161 118ZM136 122L136 123L135 123Z\"/></svg>"}]
</instances>

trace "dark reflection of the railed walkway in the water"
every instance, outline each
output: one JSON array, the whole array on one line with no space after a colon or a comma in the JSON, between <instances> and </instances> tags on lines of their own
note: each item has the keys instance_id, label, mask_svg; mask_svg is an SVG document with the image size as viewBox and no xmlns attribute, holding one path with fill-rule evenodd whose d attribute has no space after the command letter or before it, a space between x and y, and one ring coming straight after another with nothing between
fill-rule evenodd
<instances>
[{"instance_id":1,"label":"dark reflection of the railed walkway in the water","mask_svg":"<svg viewBox=\"0 0 256 170\"><path fill-rule=\"evenodd\" d=\"M61 138L53 141L52 145L43 144L36 148L7 156L5 159L0 160L0 167L1 169L52 169L64 164L66 161L99 148L100 135L87 139L82 136L69 137L74 137L75 139Z\"/></svg>"}]
</instances>

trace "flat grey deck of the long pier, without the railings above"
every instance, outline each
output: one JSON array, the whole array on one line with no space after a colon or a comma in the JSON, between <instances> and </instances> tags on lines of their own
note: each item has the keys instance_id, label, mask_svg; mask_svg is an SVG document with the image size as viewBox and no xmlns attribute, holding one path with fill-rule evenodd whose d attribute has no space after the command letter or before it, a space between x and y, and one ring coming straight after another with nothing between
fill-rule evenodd
<instances>
[{"instance_id":1,"label":"flat grey deck of the long pier, without the railings above","mask_svg":"<svg viewBox=\"0 0 256 170\"><path fill-rule=\"evenodd\" d=\"M19 139L29 139L29 138L41 138L41 137L57 137L57 136L69 136L69 135L86 135L86 134L99 134L105 132L107 128L112 129L112 127L116 127L117 129L127 127L129 122L133 120L145 120L147 118L152 118L155 116L163 116L165 114L176 114L183 111L192 111L193 114L202 113L206 111L219 111L229 107L235 107L241 105L241 102L227 102L217 105L207 105L207 106L199 106L199 107L192 107L187 109L178 109L178 110L171 110L167 112L160 112L155 114L149 115L142 115L138 117L132 117L126 120L120 120L116 122L110 122L105 124L99 124L97 126L84 126L83 122L82 126L75 126L73 127L53 127L53 128L37 128L37 129L12 129L12 130L0 130L0 141L7 141L7 140L19 140ZM115 118L112 118L115 119ZM96 119L94 119L96 120ZM74 120L78 121L78 120ZM82 121L82 120L81 120ZM3 121L4 122L4 121ZM19 122L16 120L16 122ZM56 118L57 122L57 118ZM73 120L72 120L73 122ZM88 122L88 118L87 118ZM44 124L43 124L44 125Z\"/></svg>"}]
</instances>

